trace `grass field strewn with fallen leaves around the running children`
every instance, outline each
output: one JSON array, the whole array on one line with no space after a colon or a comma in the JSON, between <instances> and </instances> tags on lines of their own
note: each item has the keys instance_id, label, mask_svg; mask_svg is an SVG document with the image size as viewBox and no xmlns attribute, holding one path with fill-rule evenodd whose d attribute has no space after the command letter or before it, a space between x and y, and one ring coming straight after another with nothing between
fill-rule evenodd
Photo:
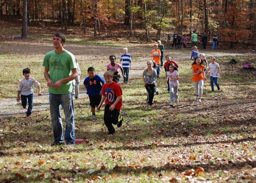
<instances>
[{"instance_id":1,"label":"grass field strewn with fallen leaves around the running children","mask_svg":"<svg viewBox=\"0 0 256 183\"><path fill-rule=\"evenodd\" d=\"M89 66L94 66L102 75L109 63L108 55L118 55L122 49L120 45L99 46L89 41L85 49L79 47L80 43L77 46L75 41L71 41L68 48L80 60L81 83ZM12 47L10 52L0 54L2 102L15 101L25 67L32 68L31 75L47 93L42 66L45 48L52 49L49 45L42 45L20 54L15 53ZM146 46L142 50L151 48ZM256 57L237 56L238 64L231 65L229 60L233 57L219 54L221 90L211 92L208 76L201 105L195 100L191 60L176 59L180 65L180 103L174 108L169 107L165 73L161 71L158 82L160 95L155 95L154 107L146 107L146 90L139 69L146 67L146 60L150 57L140 53L136 47L129 47L129 51L133 53L133 64L137 66L133 69L138 69L138 72L132 75L129 84L120 84L124 123L119 129L115 127L117 134L107 135L103 110L97 112L98 120L91 120L87 95L74 101L76 138L83 138L85 142L71 148L51 146L53 131L49 107L33 111L30 118L24 118L23 114L0 118L0 178L3 182L256 180L256 76L255 71L242 69L247 63L256 65ZM187 58L186 54L172 51L174 58ZM80 88L82 93L85 92L82 85ZM62 120L65 126L64 115Z\"/></svg>"}]
</instances>

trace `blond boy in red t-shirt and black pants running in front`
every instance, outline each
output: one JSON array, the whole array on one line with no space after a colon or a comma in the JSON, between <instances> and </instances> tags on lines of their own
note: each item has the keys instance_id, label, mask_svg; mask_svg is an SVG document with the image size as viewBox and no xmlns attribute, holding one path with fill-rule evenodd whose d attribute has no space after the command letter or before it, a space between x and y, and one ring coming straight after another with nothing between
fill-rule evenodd
<instances>
[{"instance_id":1,"label":"blond boy in red t-shirt and black pants running in front","mask_svg":"<svg viewBox=\"0 0 256 183\"><path fill-rule=\"evenodd\" d=\"M104 109L104 123L108 128L108 135L114 135L115 129L112 124L117 127L122 126L123 117L120 116L120 110L122 108L122 89L120 85L113 82L113 73L106 71L104 73L104 79L106 83L102 86L102 98L97 109L100 110L102 103L105 100Z\"/></svg>"}]
</instances>

